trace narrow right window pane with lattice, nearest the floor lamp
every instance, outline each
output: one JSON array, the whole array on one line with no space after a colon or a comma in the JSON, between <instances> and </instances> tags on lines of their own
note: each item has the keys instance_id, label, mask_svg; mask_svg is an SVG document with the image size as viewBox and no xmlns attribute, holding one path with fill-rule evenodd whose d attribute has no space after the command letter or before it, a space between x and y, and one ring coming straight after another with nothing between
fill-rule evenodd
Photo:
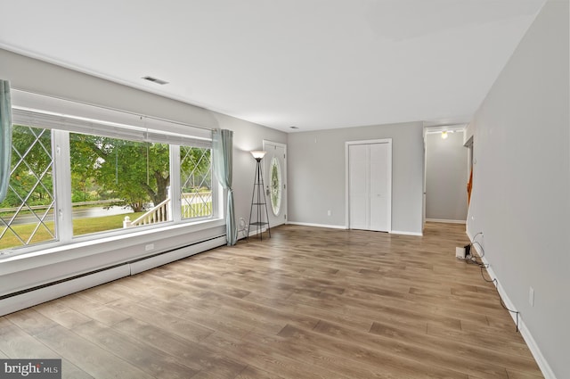
<instances>
[{"instance_id":1,"label":"narrow right window pane with lattice, nearest the floor lamp","mask_svg":"<svg viewBox=\"0 0 570 379\"><path fill-rule=\"evenodd\" d=\"M211 149L180 146L182 218L212 217Z\"/></svg>"}]
</instances>

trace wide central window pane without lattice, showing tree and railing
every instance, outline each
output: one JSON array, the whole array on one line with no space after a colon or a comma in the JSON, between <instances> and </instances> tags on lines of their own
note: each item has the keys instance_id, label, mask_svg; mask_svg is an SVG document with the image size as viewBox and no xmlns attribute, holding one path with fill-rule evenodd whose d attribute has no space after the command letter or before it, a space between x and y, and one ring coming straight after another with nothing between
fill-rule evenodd
<instances>
[{"instance_id":1,"label":"wide central window pane without lattice, showing tree and railing","mask_svg":"<svg viewBox=\"0 0 570 379\"><path fill-rule=\"evenodd\" d=\"M73 235L171 219L168 144L70 134L69 151Z\"/></svg>"}]
</instances>

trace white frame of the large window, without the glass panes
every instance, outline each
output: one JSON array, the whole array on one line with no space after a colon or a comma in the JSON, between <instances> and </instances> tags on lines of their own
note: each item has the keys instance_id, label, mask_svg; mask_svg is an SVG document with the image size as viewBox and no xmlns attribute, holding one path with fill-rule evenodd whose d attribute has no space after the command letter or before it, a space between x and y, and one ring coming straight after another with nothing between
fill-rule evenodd
<instances>
[{"instance_id":1,"label":"white frame of the large window, without the glass panes","mask_svg":"<svg viewBox=\"0 0 570 379\"><path fill-rule=\"evenodd\" d=\"M53 253L61 251L61 249L73 249L74 245L82 245L85 243L107 243L110 240L118 241L133 238L134 235L155 234L161 231L166 232L179 227L187 227L190 229L189 232L192 230L199 231L210 224L212 227L217 227L220 221L223 220L224 200L222 194L224 191L215 175L212 175L211 184L212 215L205 218L181 217L180 146L207 147L211 149L211 129L197 128L175 121L153 119L124 111L94 107L93 105L74 103L43 95L23 93L21 91L19 95L22 95L24 99L23 101L20 99L20 104L37 105L39 103L42 104L42 106L37 107L40 108L37 109L20 104L12 105L12 111L17 115L13 123L50 129L50 133L52 134L56 239L27 246L15 246L4 249L0 251L0 261L4 258L19 257L41 251ZM52 108L50 108L50 106ZM65 111L65 114L61 113L61 111ZM102 119L91 119L90 117L93 117L93 115L102 115ZM20 119L26 118L30 119L30 122L19 122ZM111 119L111 121L109 119ZM116 122L116 120L123 122ZM124 123L128 120L132 121L135 125ZM46 125L42 125L43 121ZM159 129L161 127L164 128L164 130ZM182 131L186 133L181 134ZM188 133L188 131L190 131L190 133ZM172 188L170 211L172 212L173 219L154 225L133 227L128 230L120 228L89 235L74 236L72 218L73 206L71 200L70 133L111 136L127 140L133 138L132 140L134 141L168 144L170 154L170 187ZM209 138L207 134L209 134ZM213 164L212 157L210 165Z\"/></svg>"}]
</instances>

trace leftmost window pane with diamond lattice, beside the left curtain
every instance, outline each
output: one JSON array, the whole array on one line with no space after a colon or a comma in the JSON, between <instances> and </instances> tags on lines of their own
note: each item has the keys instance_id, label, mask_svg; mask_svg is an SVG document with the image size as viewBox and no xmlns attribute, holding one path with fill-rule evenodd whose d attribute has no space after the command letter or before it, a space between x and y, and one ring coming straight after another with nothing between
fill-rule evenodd
<instances>
[{"instance_id":1,"label":"leftmost window pane with diamond lattice, beside the left curtain","mask_svg":"<svg viewBox=\"0 0 570 379\"><path fill-rule=\"evenodd\" d=\"M50 131L14 125L10 185L0 202L0 250L56 239L52 172Z\"/></svg>"}]
</instances>

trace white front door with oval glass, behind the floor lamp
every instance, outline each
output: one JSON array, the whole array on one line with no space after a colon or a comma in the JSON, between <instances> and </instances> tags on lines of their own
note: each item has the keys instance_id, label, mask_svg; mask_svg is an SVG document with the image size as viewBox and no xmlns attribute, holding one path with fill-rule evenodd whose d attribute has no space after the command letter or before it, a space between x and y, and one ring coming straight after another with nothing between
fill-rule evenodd
<instances>
[{"instance_id":1,"label":"white front door with oval glass, behind the floor lamp","mask_svg":"<svg viewBox=\"0 0 570 379\"><path fill-rule=\"evenodd\" d=\"M264 141L264 184L269 227L287 222L287 145Z\"/></svg>"}]
</instances>

